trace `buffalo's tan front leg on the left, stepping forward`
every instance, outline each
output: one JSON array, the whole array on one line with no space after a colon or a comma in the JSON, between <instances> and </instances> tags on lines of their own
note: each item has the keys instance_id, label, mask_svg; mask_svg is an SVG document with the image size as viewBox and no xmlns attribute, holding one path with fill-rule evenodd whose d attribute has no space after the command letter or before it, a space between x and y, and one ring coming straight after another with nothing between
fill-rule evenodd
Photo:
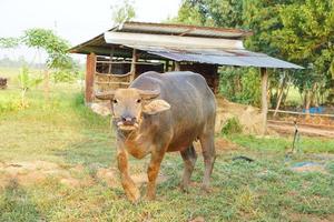
<instances>
[{"instance_id":1,"label":"buffalo's tan front leg on the left, stepping forward","mask_svg":"<svg viewBox=\"0 0 334 222\"><path fill-rule=\"evenodd\" d=\"M140 192L129 175L128 153L125 150L119 150L117 153L117 161L120 171L121 185L128 199L135 203L139 200Z\"/></svg>"}]
</instances>

